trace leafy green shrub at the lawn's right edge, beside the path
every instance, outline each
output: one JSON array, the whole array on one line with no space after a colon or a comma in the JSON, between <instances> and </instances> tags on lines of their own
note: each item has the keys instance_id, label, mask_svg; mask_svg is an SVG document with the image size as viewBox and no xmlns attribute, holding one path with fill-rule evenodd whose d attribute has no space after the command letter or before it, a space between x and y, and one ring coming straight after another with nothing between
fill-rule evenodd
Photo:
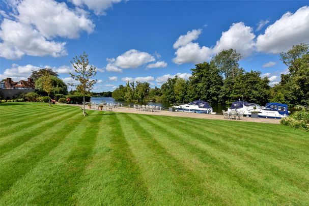
<instances>
[{"instance_id":1,"label":"leafy green shrub at the lawn's right edge, beside the path","mask_svg":"<svg viewBox=\"0 0 309 206\"><path fill-rule=\"evenodd\" d=\"M295 111L292 115L281 119L280 124L309 131L309 109Z\"/></svg>"}]
</instances>

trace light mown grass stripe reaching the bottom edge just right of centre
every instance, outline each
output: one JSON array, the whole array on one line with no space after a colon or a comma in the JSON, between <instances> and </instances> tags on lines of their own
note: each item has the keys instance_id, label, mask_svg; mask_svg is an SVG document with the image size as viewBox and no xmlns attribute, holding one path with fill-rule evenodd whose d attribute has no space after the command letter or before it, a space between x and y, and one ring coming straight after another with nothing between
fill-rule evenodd
<instances>
[{"instance_id":1,"label":"light mown grass stripe reaching the bottom edge just right of centre","mask_svg":"<svg viewBox=\"0 0 309 206\"><path fill-rule=\"evenodd\" d=\"M138 131L137 136L151 150L156 154L156 158L162 162L163 165L168 165L165 172L173 174L173 187L177 188L175 191L180 196L179 203L201 204L214 203L223 204L224 200L220 199L218 195L212 193L209 187L205 185L203 179L194 175L188 168L184 167L181 162L175 159L167 150L156 140L153 134L144 129L143 121L134 120L131 115L126 114L125 121L128 121L132 128ZM194 185L194 187L191 187Z\"/></svg>"}]
</instances>

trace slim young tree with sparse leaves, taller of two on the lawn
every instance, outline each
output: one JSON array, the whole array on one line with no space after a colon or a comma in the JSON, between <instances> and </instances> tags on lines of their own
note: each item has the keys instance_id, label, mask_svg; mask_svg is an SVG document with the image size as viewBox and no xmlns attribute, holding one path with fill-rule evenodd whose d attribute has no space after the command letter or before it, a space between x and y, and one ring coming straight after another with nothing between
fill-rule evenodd
<instances>
[{"instance_id":1,"label":"slim young tree with sparse leaves, taller of two on the lawn","mask_svg":"<svg viewBox=\"0 0 309 206\"><path fill-rule=\"evenodd\" d=\"M97 79L92 79L92 77L97 74L97 68L93 65L89 66L88 55L85 52L79 55L79 57L75 56L73 61L71 61L71 64L76 74L70 72L70 76L79 82L76 85L76 90L83 95L82 113L84 116L86 116L87 113L85 112L85 95L90 93L93 85L97 82Z\"/></svg>"}]
</instances>

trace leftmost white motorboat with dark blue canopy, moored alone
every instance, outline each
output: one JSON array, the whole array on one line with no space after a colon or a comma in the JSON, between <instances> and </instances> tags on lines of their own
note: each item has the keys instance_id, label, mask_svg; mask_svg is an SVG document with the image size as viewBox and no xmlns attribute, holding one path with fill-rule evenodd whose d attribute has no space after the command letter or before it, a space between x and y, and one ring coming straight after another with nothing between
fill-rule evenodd
<instances>
[{"instance_id":1,"label":"leftmost white motorboat with dark blue canopy, moored alone","mask_svg":"<svg viewBox=\"0 0 309 206\"><path fill-rule=\"evenodd\" d=\"M182 104L182 105L176 105L174 104L173 106L176 111L183 111L183 112L191 112L191 113L212 113L213 112L211 106L209 105L208 102L204 102L201 100L196 100L193 102L190 102L188 104Z\"/></svg>"}]
</instances>

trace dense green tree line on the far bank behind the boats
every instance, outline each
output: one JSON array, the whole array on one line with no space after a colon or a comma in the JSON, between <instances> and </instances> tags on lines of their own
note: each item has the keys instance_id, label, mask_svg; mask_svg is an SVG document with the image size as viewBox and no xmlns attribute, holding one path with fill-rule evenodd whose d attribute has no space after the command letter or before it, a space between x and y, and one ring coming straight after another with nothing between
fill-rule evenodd
<instances>
[{"instance_id":1,"label":"dense green tree line on the far bank behind the boats","mask_svg":"<svg viewBox=\"0 0 309 206\"><path fill-rule=\"evenodd\" d=\"M222 50L212 60L196 64L188 80L168 78L161 88L150 88L148 82L127 82L112 97L120 101L164 101L185 103L204 100L211 104L231 104L238 99L265 105L267 102L289 106L309 105L309 46L299 44L280 53L289 73L273 87L260 71L240 67L241 54L234 49Z\"/></svg>"}]
</instances>

